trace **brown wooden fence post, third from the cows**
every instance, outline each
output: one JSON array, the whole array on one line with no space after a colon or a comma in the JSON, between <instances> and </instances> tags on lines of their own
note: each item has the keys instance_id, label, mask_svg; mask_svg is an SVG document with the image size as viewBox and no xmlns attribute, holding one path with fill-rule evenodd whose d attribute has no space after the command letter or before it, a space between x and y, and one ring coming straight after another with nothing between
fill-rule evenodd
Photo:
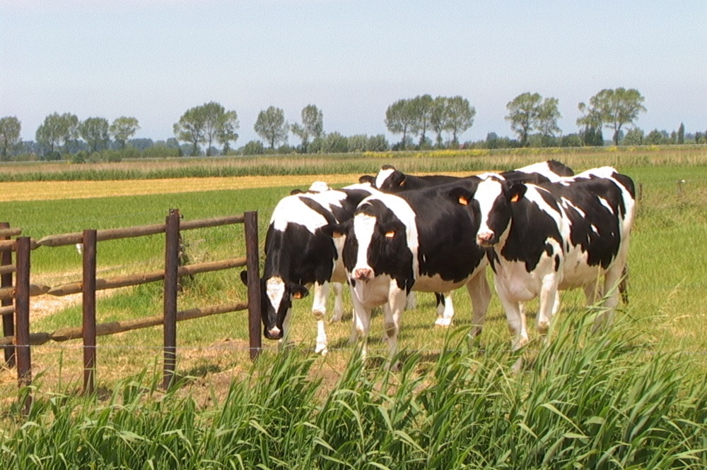
<instances>
[{"instance_id":1,"label":"brown wooden fence post, third from the cows","mask_svg":"<svg viewBox=\"0 0 707 470\"><path fill-rule=\"evenodd\" d=\"M83 393L92 394L95 385L95 265L96 231L83 231Z\"/></svg>"}]
</instances>

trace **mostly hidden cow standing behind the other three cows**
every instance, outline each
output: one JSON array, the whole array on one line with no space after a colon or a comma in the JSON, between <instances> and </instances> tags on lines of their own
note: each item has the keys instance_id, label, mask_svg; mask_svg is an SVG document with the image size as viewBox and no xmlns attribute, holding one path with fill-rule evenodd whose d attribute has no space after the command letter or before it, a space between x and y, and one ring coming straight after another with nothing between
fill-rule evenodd
<instances>
[{"instance_id":1,"label":"mostly hidden cow standing behind the other three cows","mask_svg":"<svg viewBox=\"0 0 707 470\"><path fill-rule=\"evenodd\" d=\"M566 176L572 176L574 171L565 164L556 160L547 160L527 165L526 167L504 171L500 175L508 181L521 181L523 183L547 183L559 181ZM472 180L483 178L484 174L472 176L447 176L447 175L425 175L414 176L405 174L392 165L384 165L375 176L364 175L359 178L361 183L368 183L374 188L384 193L399 194L416 189L438 186L440 184L452 183L460 180ZM414 293L413 293L414 294ZM411 296L413 295L411 294ZM436 293L437 300L437 320L435 325L448 327L454 319L454 306L450 292Z\"/></svg>"}]
</instances>

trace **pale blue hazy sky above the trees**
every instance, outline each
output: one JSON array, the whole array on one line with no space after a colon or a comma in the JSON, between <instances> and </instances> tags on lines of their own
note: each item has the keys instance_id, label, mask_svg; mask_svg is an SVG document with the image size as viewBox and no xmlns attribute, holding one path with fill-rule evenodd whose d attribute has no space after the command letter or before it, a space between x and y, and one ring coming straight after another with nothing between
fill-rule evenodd
<instances>
[{"instance_id":1,"label":"pale blue hazy sky above the trees","mask_svg":"<svg viewBox=\"0 0 707 470\"><path fill-rule=\"evenodd\" d=\"M558 98L573 133L577 104L618 87L645 97L645 131L705 131L707 1L0 0L0 116L28 140L53 112L165 139L216 101L238 113L236 146L259 111L296 122L308 104L327 132L394 142L385 110L425 93L476 108L462 141L512 135L522 92Z\"/></svg>"}]
</instances>

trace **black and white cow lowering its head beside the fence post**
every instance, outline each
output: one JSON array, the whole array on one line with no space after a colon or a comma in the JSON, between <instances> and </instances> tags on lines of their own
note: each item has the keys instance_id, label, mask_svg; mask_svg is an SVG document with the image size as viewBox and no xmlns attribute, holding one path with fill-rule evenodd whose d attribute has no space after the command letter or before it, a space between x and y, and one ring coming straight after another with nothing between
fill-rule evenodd
<instances>
[{"instance_id":1,"label":"black and white cow lowering its head beside the fence post","mask_svg":"<svg viewBox=\"0 0 707 470\"><path fill-rule=\"evenodd\" d=\"M314 188L314 187L313 187ZM291 319L292 299L301 299L315 287L312 314L317 320L317 353L327 353L325 318L329 282L347 282L341 261L343 241L334 241L318 229L351 219L358 203L371 193L366 184L342 189L319 185L312 191L293 191L276 205L265 236L265 265L261 282L264 335L283 339ZM247 284L247 271L241 272ZM334 315L343 309L335 308ZM336 318L334 318L336 320Z\"/></svg>"}]
</instances>

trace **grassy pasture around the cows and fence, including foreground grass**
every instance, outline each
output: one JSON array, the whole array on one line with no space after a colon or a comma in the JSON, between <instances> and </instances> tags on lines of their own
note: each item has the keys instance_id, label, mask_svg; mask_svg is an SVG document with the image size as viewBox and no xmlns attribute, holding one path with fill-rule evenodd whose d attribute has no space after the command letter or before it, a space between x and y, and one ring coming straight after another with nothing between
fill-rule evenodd
<instances>
[{"instance_id":1,"label":"grassy pasture around the cows and fence, including foreground grass","mask_svg":"<svg viewBox=\"0 0 707 470\"><path fill-rule=\"evenodd\" d=\"M140 409L141 413L137 415L152 416L153 421L140 421L137 415L134 418L124 416L121 418L124 421L112 421L112 426L134 435L152 435L153 431L148 428L154 426L157 437L152 438L153 447L147 445L147 440L120 434L117 430L112 438L115 440L108 442L121 449L124 445L139 448L142 452L153 449L154 462L162 464L173 462L169 460L169 454L178 449L185 456L191 456L177 464L181 468L199 468L194 464L195 459L201 458L196 452L199 449L206 452L218 445L223 449L235 445L233 440L229 441L230 444L224 442L227 433L217 432L222 429L218 426L231 429L229 426L233 423L226 423L228 418L245 419L245 424L238 426L243 426L243 436L251 436L252 441L243 436L239 438L251 442L250 447L260 445L261 453L255 457L264 459L262 462L266 462L264 465L269 468L286 468L276 459L293 462L288 459L294 458L298 446L314 446L327 457L312 460L316 456L302 454L298 457L300 466L296 468L312 468L312 462L317 462L317 468L347 466L344 463L338 465L337 459L348 463L350 468L363 468L365 464L402 468L394 463L407 457L412 459L408 462L409 468L440 468L434 465L435 462L485 462L479 466L494 468L503 468L503 462L506 468L526 462L525 468L543 468L543 459L546 459L546 468L564 468L552 462L569 462L566 468L572 466L572 462L594 462L603 468L624 468L631 466L632 462L643 462L643 467L648 468L650 462L657 462L657 457L639 455L638 449L649 452L654 447L655 452L672 452L673 457L677 456L675 458L682 462L677 466L694 464L694 468L703 468L707 465L704 428L707 418L704 402L707 397L704 381L707 373L704 327L707 321L707 296L704 294L707 288L704 269L707 265L704 243L707 229L705 147L605 150L566 155L555 152L462 157L431 155L428 158L423 155L369 155L354 158L351 162L336 156L329 160L312 157L314 163L310 161L310 166L305 159L296 158L300 167L304 165L303 169L278 170L281 174L276 176L257 174L255 177L209 174L193 178L194 175L184 169L180 169L180 178L170 180L140 178L97 183L76 177L66 183L23 181L23 178L13 177L11 182L0 183L0 222L22 227L23 235L40 239L47 234L88 228L154 224L161 222L170 208L179 208L185 220L257 210L262 253L264 234L274 205L292 188L306 187L317 179L328 181L332 186L344 186L356 182L360 174L375 174L384 163L409 172L460 174L510 169L547 158L559 159L578 171L612 164L631 176L639 188L641 200L629 251L630 301L621 307L617 325L614 331L605 334L607 337L588 337L588 328L583 325L588 315L583 296L578 292L567 292L563 294L562 309L557 318L556 341L547 348L532 343L526 353L529 365L524 373L515 377L508 375L506 368L514 358L507 351L510 338L496 296L479 338L480 349L468 351L463 340L470 325L466 294L455 292L455 326L448 330L433 327L436 315L433 296L418 294L417 308L406 311L402 320L399 337L404 358L402 371L389 374L374 366L373 370L364 373L361 364L351 359L356 356L356 349L347 342L348 321L327 325L330 352L325 357L312 356L315 321L309 313L311 299L305 299L294 305L290 338L295 345L293 353L276 354L276 344L264 339L266 351L255 367L247 359L245 313L180 323L177 327L177 372L185 379L179 390L167 394L156 390L156 382L152 379L153 375L160 375L160 329L99 337L97 379L99 396L103 399L99 400L97 409L70 396L80 386L82 377L82 353L78 342L35 347L32 354L37 406L31 421L48 420L59 426L59 435L64 433L64 438L73 442L76 437L69 430L71 426L81 420L97 420L93 413L117 419L121 409L126 412ZM286 166L285 158L281 160L280 164ZM218 167L227 163L216 159L216 162L192 162L192 165ZM139 162L139 165L147 164ZM257 163L252 165L255 168ZM40 167L32 166L31 171ZM147 168L140 171L148 172ZM267 171L276 171L269 168ZM4 168L0 171L4 173ZM296 171L302 171L302 174L296 174ZM35 175L34 179L42 178ZM186 231L184 236L187 253L196 261L243 253L240 227ZM163 263L163 243L160 236L99 243L98 276L158 269ZM34 283L56 285L80 279L81 257L73 247L40 248L32 254L32 265ZM160 313L160 287L160 284L148 284L104 296L98 303L98 321ZM54 299L45 297L35 297L32 303L54 302ZM345 298L346 304L350 305L347 293ZM236 299L245 299L245 287L240 283L238 270L197 275L194 281L185 284L179 308ZM80 325L81 308L78 304L72 304L71 299L56 303L57 306L49 306L48 310L38 311L36 315L33 311L33 332L52 332ZM532 315L534 306L531 305L529 310ZM349 315L346 320L350 318ZM528 324L533 325L532 322L533 318L529 318ZM369 347L373 355L385 351L385 345L380 341L380 323L380 318L373 319ZM534 332L532 326L529 330L531 334ZM375 360L373 362L375 364ZM284 393L284 388L291 389L292 393ZM577 403L580 395L597 401ZM16 397L14 371L1 370L0 412L12 410ZM278 402L279 399L290 402ZM306 399L310 403L305 404ZM244 403L257 404L257 413L263 415L245 411ZM65 405L74 410L66 416L62 412ZM171 421L160 418L171 406L179 406L182 413L173 416ZM322 407L312 411L312 406ZM485 408L484 416L461 411L472 406L476 406L473 413L481 413ZM601 411L602 406L606 407L604 411ZM583 416L583 412L578 411L580 408L585 413L595 410L596 414ZM277 410L283 409L288 411L285 418L275 416ZM454 409L457 414L448 416ZM115 410L115 416L106 410ZM268 410L274 410L272 416L266 416ZM296 410L307 417L294 416ZM617 418L611 418L614 411ZM324 415L334 417L332 419L341 428L332 427L333 423L322 418ZM443 416L448 421L443 421ZM668 424L658 422L661 416ZM74 419L78 421L72 421ZM286 419L293 421L282 421ZM300 419L302 421L297 421ZM473 421L477 424L463 420L477 420ZM21 430L21 422L13 421L10 415L4 414L0 421L4 425L0 428L18 433L33 432L26 427ZM191 424L187 426L187 422ZM200 428L195 423L204 426ZM293 426L296 429L292 435L277 435L284 433L284 428ZM663 434L658 435L672 436L670 433L678 429L683 442L678 444L672 438L665 438L663 444L674 447L660 447L660 438L648 435L651 426L661 430ZM664 429L665 426L668 430ZM318 433L312 436L305 428L316 429ZM160 440L158 437L171 436L175 429L182 429L189 435L175 440ZM391 435L386 437L386 430L390 430ZM542 434L544 432L547 434ZM477 434L479 437L474 438ZM41 435L37 430L33 438L43 442ZM317 439L323 439L322 435L337 435L340 441L337 442L344 450L337 451L339 447L334 438L318 442ZM596 435L601 442L595 441ZM473 442L478 447L455 453L452 447L445 447L444 442L435 441L442 436L448 436L450 441ZM0 434L0 446L4 446L2 440L11 437L11 431ZM14 438L19 439L17 434ZM279 444L268 443L269 438ZM638 453L632 457L616 457L623 452L622 445L612 440L622 440L629 450ZM271 445L275 447L269 447ZM611 453L614 451L609 452L612 445L616 447L615 458ZM532 449L520 450L524 446ZM49 452L49 447L34 450L23 447L23 456L13 459L8 457L10 453L4 447L0 448L3 449L0 462L7 459L6 462L11 464L29 459L32 452ZM283 454L264 457L263 448L277 449ZM438 457L442 460L435 461L435 455L426 453L434 453L430 451L432 448L438 449ZM489 449L488 455L481 455L484 448ZM377 449L380 454L375 453ZM238 452L243 452L243 456L247 454L245 450ZM219 459L218 455L209 455ZM355 455L358 455L358 464L353 460ZM117 452L116 459L112 464L132 466L126 462L138 462L130 461L127 451L125 454ZM140 462L146 462L146 459ZM674 468L676 464L671 462L665 468ZM207 467L203 462L200 465ZM243 468L248 466L243 464ZM219 467L214 465L214 468Z\"/></svg>"}]
</instances>

